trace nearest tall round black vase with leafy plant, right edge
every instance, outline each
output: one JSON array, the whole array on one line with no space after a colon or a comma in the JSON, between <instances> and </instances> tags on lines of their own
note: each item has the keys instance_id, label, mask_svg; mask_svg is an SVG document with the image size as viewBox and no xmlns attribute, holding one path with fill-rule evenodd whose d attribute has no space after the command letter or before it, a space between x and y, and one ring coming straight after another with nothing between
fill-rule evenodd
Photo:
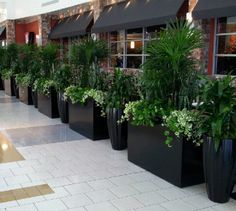
<instances>
[{"instance_id":1,"label":"nearest tall round black vase with leafy plant, right edge","mask_svg":"<svg viewBox=\"0 0 236 211\"><path fill-rule=\"evenodd\" d=\"M236 87L230 75L205 79L199 110L204 119L204 173L210 200L230 199L236 175Z\"/></svg>"}]
</instances>

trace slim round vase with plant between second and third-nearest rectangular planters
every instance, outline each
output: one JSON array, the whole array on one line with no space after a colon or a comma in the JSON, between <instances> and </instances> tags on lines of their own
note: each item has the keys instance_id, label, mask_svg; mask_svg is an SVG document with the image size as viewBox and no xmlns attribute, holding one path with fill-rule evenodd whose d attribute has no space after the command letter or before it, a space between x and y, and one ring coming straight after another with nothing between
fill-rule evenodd
<instances>
[{"instance_id":1,"label":"slim round vase with plant between second and third-nearest rectangular planters","mask_svg":"<svg viewBox=\"0 0 236 211\"><path fill-rule=\"evenodd\" d=\"M53 73L53 80L57 91L58 110L62 123L69 122L68 102L65 100L64 92L70 86L71 78L71 67L67 64L61 64Z\"/></svg>"}]
</instances>

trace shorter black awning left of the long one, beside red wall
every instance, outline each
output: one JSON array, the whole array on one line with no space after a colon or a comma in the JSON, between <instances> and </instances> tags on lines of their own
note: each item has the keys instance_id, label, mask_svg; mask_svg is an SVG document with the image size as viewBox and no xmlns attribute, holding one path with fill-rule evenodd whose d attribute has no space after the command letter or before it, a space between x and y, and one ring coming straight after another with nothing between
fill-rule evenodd
<instances>
[{"instance_id":1,"label":"shorter black awning left of the long one, beside red wall","mask_svg":"<svg viewBox=\"0 0 236 211\"><path fill-rule=\"evenodd\" d=\"M61 20L49 34L50 39L60 39L64 37L74 37L85 35L88 27L93 21L93 12L86 12L82 15L74 15L72 17Z\"/></svg>"}]
</instances>

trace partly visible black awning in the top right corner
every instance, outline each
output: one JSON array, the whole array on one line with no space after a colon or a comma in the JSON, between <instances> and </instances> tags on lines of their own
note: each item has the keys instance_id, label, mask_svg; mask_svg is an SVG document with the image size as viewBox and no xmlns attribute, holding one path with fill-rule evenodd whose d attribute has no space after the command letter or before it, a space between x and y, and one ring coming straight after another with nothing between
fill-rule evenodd
<instances>
[{"instance_id":1,"label":"partly visible black awning in the top right corner","mask_svg":"<svg viewBox=\"0 0 236 211\"><path fill-rule=\"evenodd\" d=\"M199 19L236 16L236 0L198 0L193 17Z\"/></svg>"}]
</instances>

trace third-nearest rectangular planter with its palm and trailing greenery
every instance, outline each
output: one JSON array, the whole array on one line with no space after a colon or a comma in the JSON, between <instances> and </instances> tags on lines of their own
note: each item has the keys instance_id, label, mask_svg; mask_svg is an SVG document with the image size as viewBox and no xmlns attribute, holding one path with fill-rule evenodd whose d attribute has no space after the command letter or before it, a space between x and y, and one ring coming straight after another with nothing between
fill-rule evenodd
<instances>
[{"instance_id":1,"label":"third-nearest rectangular planter with its palm and trailing greenery","mask_svg":"<svg viewBox=\"0 0 236 211\"><path fill-rule=\"evenodd\" d=\"M58 118L57 93L53 81L53 72L58 57L58 46L48 43L40 51L40 76L34 82L38 95L38 110L50 118Z\"/></svg>"}]
</instances>

